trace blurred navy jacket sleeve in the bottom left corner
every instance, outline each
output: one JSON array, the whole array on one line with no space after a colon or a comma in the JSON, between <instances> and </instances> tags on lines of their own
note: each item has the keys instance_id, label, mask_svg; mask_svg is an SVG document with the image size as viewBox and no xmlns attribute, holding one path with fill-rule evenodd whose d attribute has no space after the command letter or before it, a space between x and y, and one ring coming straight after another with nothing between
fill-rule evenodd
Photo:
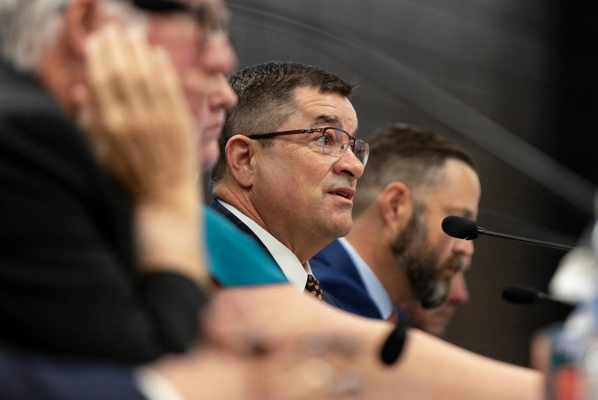
<instances>
[{"instance_id":1,"label":"blurred navy jacket sleeve in the bottom left corner","mask_svg":"<svg viewBox=\"0 0 598 400\"><path fill-rule=\"evenodd\" d=\"M32 352L0 343L4 400L144 400L126 365Z\"/></svg>"}]
</instances>

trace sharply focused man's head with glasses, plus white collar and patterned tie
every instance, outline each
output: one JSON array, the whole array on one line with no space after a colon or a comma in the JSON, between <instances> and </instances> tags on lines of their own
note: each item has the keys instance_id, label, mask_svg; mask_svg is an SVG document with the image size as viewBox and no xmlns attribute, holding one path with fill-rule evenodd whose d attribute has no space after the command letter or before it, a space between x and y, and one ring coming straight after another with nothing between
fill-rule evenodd
<instances>
[{"instance_id":1,"label":"sharply focused man's head with glasses, plus white collar and patterned tie","mask_svg":"<svg viewBox=\"0 0 598 400\"><path fill-rule=\"evenodd\" d=\"M295 288L334 303L307 261L351 229L370 148L353 137L353 87L300 63L259 64L229 80L240 103L222 131L212 207L253 235Z\"/></svg>"}]
</instances>

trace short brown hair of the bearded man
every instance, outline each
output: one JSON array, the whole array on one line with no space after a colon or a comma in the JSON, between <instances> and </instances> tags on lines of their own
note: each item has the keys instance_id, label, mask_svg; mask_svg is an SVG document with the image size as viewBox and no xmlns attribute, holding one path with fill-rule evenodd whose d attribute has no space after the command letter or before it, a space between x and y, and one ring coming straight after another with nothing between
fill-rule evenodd
<instances>
[{"instance_id":1,"label":"short brown hair of the bearded man","mask_svg":"<svg viewBox=\"0 0 598 400\"><path fill-rule=\"evenodd\" d=\"M456 159L478 173L474 159L463 147L443 136L409 124L386 125L368 138L368 167L359 178L353 198L353 217L361 215L392 181L401 181L414 201L425 201L443 180L447 159Z\"/></svg>"}]
</instances>

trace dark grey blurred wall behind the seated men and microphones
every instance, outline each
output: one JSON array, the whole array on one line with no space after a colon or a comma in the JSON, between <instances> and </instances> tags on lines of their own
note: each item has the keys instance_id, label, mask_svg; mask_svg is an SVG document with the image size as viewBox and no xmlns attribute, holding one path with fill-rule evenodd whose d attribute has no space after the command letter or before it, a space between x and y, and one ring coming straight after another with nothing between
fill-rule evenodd
<instances>
[{"instance_id":1,"label":"dark grey blurred wall behind the seated men and microphones","mask_svg":"<svg viewBox=\"0 0 598 400\"><path fill-rule=\"evenodd\" d=\"M359 83L360 136L410 122L462 144L481 169L480 226L575 244L593 217L598 6L544 0L235 0L240 66L300 61ZM529 143L521 143L521 139ZM538 150L540 150L538 152ZM563 253L481 238L471 300L446 339L527 365L562 309L504 303L547 290Z\"/></svg>"}]
</instances>

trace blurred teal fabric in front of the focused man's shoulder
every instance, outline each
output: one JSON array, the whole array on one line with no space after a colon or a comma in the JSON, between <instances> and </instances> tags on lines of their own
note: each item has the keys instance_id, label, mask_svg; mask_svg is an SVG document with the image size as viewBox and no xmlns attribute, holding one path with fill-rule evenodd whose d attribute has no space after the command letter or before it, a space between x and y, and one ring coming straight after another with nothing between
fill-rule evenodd
<instances>
[{"instance_id":1,"label":"blurred teal fabric in front of the focused man's shoulder","mask_svg":"<svg viewBox=\"0 0 598 400\"><path fill-rule=\"evenodd\" d=\"M288 282L253 238L216 211L203 207L210 274L223 286Z\"/></svg>"}]
</instances>

